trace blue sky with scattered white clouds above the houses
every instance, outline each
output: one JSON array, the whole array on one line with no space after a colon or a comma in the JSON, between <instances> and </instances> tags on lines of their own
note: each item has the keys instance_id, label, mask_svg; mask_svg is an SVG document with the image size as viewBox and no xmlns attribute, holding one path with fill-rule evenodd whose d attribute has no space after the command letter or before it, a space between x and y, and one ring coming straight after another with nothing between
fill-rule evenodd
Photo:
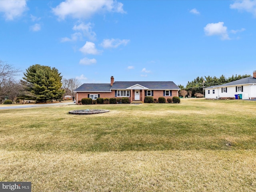
<instances>
[{"instance_id":1,"label":"blue sky with scattered white clouds above the houses","mask_svg":"<svg viewBox=\"0 0 256 192\"><path fill-rule=\"evenodd\" d=\"M256 1L0 0L0 60L82 83L256 70ZM22 74L19 78L22 78Z\"/></svg>"}]
</instances>

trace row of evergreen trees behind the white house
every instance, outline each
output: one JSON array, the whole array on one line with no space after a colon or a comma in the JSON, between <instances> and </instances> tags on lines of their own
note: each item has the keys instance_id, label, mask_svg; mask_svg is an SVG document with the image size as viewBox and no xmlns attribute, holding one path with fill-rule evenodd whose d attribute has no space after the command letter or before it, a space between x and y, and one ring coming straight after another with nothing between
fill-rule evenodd
<instances>
[{"instance_id":1,"label":"row of evergreen trees behind the white house","mask_svg":"<svg viewBox=\"0 0 256 192\"><path fill-rule=\"evenodd\" d=\"M216 86L216 85L222 85L225 83L229 83L232 81L236 81L242 78L246 78L246 77L250 77L251 75L232 75L232 77L228 77L226 78L224 75L221 75L219 78L216 76L204 76L203 77L197 77L192 81L188 81L188 83L186 84L186 87L184 87L183 85L178 85L178 87L181 90L185 90L186 92L183 92L183 94L185 94L185 96L188 94L189 96L193 96L196 93L201 93L204 94L203 89L210 87L210 86Z\"/></svg>"}]
</instances>

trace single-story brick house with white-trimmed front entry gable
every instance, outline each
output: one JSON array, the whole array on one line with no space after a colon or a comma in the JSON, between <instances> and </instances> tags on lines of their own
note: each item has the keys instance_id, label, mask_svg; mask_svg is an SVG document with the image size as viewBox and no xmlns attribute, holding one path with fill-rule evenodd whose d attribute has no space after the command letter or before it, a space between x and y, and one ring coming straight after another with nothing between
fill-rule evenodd
<instances>
[{"instance_id":1,"label":"single-story brick house with white-trimmed front entry gable","mask_svg":"<svg viewBox=\"0 0 256 192\"><path fill-rule=\"evenodd\" d=\"M76 90L76 104L82 98L122 98L128 97L130 102L144 102L145 96L159 97L178 96L180 88L172 81L116 81L111 76L110 83L85 83Z\"/></svg>"}]
</instances>

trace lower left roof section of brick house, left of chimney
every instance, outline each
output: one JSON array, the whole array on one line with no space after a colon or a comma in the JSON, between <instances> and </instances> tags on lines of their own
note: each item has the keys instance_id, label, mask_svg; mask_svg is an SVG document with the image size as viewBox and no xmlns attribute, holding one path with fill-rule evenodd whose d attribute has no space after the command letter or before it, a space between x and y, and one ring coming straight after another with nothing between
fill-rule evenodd
<instances>
[{"instance_id":1,"label":"lower left roof section of brick house, left of chimney","mask_svg":"<svg viewBox=\"0 0 256 192\"><path fill-rule=\"evenodd\" d=\"M111 92L110 83L84 83L75 92Z\"/></svg>"}]
</instances>

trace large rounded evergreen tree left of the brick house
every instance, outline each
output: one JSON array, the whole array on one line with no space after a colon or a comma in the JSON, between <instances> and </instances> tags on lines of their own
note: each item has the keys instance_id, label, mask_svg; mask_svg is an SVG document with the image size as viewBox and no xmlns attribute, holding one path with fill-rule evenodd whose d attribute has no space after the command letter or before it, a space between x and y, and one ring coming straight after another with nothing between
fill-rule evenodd
<instances>
[{"instance_id":1,"label":"large rounded evergreen tree left of the brick house","mask_svg":"<svg viewBox=\"0 0 256 192\"><path fill-rule=\"evenodd\" d=\"M56 68L35 64L26 69L23 84L30 97L37 102L61 100L65 90L62 87L62 76Z\"/></svg>"}]
</instances>

